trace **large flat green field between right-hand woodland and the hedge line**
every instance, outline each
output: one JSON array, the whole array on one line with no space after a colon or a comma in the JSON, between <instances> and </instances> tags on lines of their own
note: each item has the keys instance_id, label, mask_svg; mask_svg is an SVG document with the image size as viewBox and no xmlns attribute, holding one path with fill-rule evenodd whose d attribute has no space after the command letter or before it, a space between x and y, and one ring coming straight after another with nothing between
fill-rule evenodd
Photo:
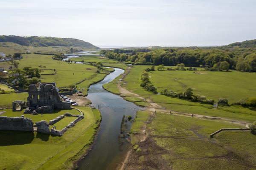
<instances>
[{"instance_id":1,"label":"large flat green field between right-hand woodland and the hedge line","mask_svg":"<svg viewBox=\"0 0 256 170\"><path fill-rule=\"evenodd\" d=\"M197 74L196 74L197 73ZM193 93L218 101L226 98L230 103L242 98L255 97L256 73L239 71L151 71L151 82L157 92L169 89L183 92L192 88Z\"/></svg>"}]
</instances>

